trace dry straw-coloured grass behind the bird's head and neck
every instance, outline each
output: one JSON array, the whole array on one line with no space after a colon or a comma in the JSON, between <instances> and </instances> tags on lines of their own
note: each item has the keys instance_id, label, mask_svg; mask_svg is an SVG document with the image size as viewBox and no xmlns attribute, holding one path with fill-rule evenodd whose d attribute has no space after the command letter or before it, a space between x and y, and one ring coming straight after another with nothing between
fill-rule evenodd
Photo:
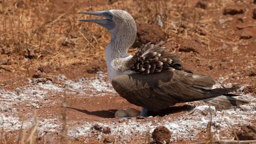
<instances>
[{"instance_id":1,"label":"dry straw-coloured grass behind the bird's head and neck","mask_svg":"<svg viewBox=\"0 0 256 144\"><path fill-rule=\"evenodd\" d=\"M72 1L69 7L59 6L57 1L2 1L0 9L1 38L0 47L9 51L9 58L15 62L13 69L27 70L34 65L61 65L60 61L67 57L102 55L108 43L109 34L93 23L80 23L78 19L90 16L79 15L79 11L124 9L129 11L136 22L157 23L158 16L164 22L162 28L168 35L176 32L184 23L182 14L188 8L187 1L179 9L172 8L171 2L162 1L118 1L111 5L97 5L96 2ZM107 1L106 1L107 3ZM133 7L147 5L147 7ZM88 5L86 7L85 5ZM179 27L173 32L173 19L179 19ZM193 26L196 24L194 21ZM86 25L86 26L85 26ZM72 53L72 55L70 55ZM26 66L20 64L24 57L31 59ZM29 75L29 72L27 72Z\"/></svg>"}]
</instances>

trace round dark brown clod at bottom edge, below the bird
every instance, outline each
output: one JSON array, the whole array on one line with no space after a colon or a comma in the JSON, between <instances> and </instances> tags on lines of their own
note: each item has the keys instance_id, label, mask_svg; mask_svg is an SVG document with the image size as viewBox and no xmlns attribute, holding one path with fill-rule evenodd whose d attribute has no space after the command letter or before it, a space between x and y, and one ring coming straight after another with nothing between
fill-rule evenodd
<instances>
[{"instance_id":1,"label":"round dark brown clod at bottom edge, below the bird","mask_svg":"<svg viewBox=\"0 0 256 144\"><path fill-rule=\"evenodd\" d=\"M152 138L156 144L170 143L171 131L166 127L159 126L154 129L152 133Z\"/></svg>"}]
</instances>

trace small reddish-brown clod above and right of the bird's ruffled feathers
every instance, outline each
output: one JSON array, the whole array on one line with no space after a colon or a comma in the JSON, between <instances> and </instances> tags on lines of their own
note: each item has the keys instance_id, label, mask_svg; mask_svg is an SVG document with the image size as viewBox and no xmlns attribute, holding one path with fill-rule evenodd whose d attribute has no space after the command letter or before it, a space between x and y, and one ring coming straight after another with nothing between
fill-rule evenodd
<instances>
[{"instance_id":1,"label":"small reddish-brown clod above and right of the bird's ruffled feathers","mask_svg":"<svg viewBox=\"0 0 256 144\"><path fill-rule=\"evenodd\" d=\"M198 44L194 40L185 39L182 43L182 45L179 47L179 52L195 52L199 53L197 50L197 47L201 47L200 44Z\"/></svg>"}]
</instances>

